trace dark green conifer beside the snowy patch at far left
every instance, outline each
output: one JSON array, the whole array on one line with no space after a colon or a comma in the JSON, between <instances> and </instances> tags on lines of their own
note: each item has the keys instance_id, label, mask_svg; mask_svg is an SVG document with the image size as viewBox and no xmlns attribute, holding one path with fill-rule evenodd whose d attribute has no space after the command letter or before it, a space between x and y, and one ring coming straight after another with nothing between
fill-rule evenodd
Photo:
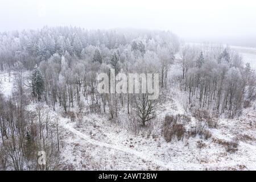
<instances>
[{"instance_id":1,"label":"dark green conifer beside the snowy patch at far left","mask_svg":"<svg viewBox=\"0 0 256 182\"><path fill-rule=\"evenodd\" d=\"M35 97L37 96L38 101L40 101L44 91L44 79L38 65L35 65L35 68L31 77L31 81L32 81L31 82L32 94Z\"/></svg>"}]
</instances>

